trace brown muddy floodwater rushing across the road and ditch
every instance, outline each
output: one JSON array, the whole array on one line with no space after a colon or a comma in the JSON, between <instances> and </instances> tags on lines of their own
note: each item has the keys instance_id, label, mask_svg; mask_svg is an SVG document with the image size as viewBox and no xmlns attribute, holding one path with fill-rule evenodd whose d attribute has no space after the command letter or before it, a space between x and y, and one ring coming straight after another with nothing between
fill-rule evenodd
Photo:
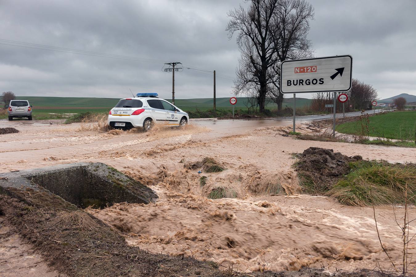
<instances>
[{"instance_id":1,"label":"brown muddy floodwater rushing across the road and ditch","mask_svg":"<svg viewBox=\"0 0 416 277\"><path fill-rule=\"evenodd\" d=\"M0 136L0 172L72 162L115 167L154 189L159 200L87 211L128 234L130 245L151 252L187 255L244 272L298 270L305 265L330 272L376 266L390 270L373 209L300 194L292 153L322 147L347 156L403 163L416 162L416 149L282 136L281 130L290 130L290 124L193 120L184 129L155 126L143 133L104 132L93 123L0 120L0 127L20 131ZM198 173L200 169L186 166L207 157L225 170ZM208 198L218 188L228 198ZM403 210L397 206L396 215L401 217ZM400 265L401 230L393 209L377 206L375 211L384 247ZM416 218L414 208L409 218ZM410 233L415 232L410 227ZM416 254L416 241L408 250Z\"/></svg>"}]
</instances>

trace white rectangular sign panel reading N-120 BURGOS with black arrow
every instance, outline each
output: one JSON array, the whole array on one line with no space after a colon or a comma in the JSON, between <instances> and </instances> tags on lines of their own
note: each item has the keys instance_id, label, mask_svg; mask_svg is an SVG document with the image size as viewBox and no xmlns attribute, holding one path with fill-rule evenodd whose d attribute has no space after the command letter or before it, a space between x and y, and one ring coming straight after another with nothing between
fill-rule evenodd
<instances>
[{"instance_id":1,"label":"white rectangular sign panel reading N-120 BURGOS with black arrow","mask_svg":"<svg viewBox=\"0 0 416 277\"><path fill-rule=\"evenodd\" d=\"M282 93L349 91L352 56L331 56L283 61L280 68Z\"/></svg>"}]
</instances>

